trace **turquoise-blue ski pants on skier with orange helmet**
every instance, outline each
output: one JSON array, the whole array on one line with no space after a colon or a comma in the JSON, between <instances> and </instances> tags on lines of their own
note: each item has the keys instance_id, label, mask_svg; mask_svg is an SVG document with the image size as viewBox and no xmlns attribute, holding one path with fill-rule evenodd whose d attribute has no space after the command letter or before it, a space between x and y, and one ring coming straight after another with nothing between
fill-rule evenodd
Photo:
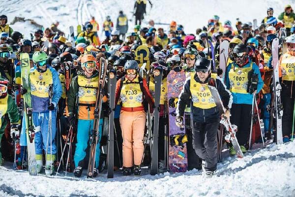
<instances>
[{"instance_id":1,"label":"turquoise-blue ski pants on skier with orange helmet","mask_svg":"<svg viewBox=\"0 0 295 197\"><path fill-rule=\"evenodd\" d=\"M89 135L90 131L93 130L94 120L78 120L77 126L77 143L76 151L74 155L75 166L79 165L79 162L84 160L86 156L86 149L89 144ZM99 165L99 156L100 156L100 140L102 133L103 119L99 120L99 138L95 150L95 168L98 168Z\"/></svg>"}]
</instances>

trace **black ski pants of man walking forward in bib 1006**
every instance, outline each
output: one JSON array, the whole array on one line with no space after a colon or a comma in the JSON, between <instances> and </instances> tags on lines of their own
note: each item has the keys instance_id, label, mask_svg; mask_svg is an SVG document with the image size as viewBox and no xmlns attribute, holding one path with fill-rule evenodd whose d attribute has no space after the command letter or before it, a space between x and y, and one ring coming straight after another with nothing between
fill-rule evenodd
<instances>
[{"instance_id":1,"label":"black ski pants of man walking forward in bib 1006","mask_svg":"<svg viewBox=\"0 0 295 197\"><path fill-rule=\"evenodd\" d=\"M196 154L206 161L206 171L217 168L217 141L219 120L210 123L193 121L193 147Z\"/></svg>"}]
</instances>

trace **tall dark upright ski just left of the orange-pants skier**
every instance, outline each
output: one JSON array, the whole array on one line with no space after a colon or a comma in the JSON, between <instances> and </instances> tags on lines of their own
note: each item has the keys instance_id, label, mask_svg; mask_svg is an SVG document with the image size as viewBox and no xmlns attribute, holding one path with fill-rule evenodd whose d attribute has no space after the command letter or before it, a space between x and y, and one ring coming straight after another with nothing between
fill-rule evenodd
<instances>
[{"instance_id":1,"label":"tall dark upright ski just left of the orange-pants skier","mask_svg":"<svg viewBox=\"0 0 295 197\"><path fill-rule=\"evenodd\" d=\"M116 92L117 74L115 69L109 71L109 100L110 100L110 118L109 118L109 144L108 144L108 178L114 178L114 116L115 116L115 92Z\"/></svg>"}]
</instances>

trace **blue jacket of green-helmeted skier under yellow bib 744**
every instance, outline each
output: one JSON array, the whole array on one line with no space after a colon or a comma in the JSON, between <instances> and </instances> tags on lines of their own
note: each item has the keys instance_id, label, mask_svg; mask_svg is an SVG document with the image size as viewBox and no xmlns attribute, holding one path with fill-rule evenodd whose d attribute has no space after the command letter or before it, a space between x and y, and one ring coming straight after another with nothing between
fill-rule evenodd
<instances>
[{"instance_id":1,"label":"blue jacket of green-helmeted skier under yellow bib 744","mask_svg":"<svg viewBox=\"0 0 295 197\"><path fill-rule=\"evenodd\" d=\"M51 66L48 66L48 68L52 73L52 82L53 82L53 97L52 97L52 103L57 106L57 103L59 102L59 99L62 94L62 86L59 80L59 74L58 72ZM37 68L34 66L30 69L31 72L38 72ZM40 98L37 96L31 95L31 103L33 112L48 112L47 109L48 103L49 103L49 97L47 98Z\"/></svg>"}]
</instances>

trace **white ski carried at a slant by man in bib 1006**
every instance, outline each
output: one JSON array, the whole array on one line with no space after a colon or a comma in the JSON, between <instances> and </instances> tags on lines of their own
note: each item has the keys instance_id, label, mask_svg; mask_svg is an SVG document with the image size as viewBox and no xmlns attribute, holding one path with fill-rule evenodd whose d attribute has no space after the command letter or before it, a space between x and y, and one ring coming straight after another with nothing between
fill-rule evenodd
<instances>
[{"instance_id":1,"label":"white ski carried at a slant by man in bib 1006","mask_svg":"<svg viewBox=\"0 0 295 197\"><path fill-rule=\"evenodd\" d=\"M212 78L208 79L208 84L210 84L210 82L209 82L210 80L214 80L214 79L212 79ZM214 80L213 83L215 84L215 80ZM219 96L218 90L215 87L210 86L210 85L208 85L208 88L209 88L209 90L211 92L211 95L212 95L212 97L213 97L213 99L214 99L214 101L216 103L216 106L217 106L217 108L219 110L219 113L220 114L225 113L226 110L225 110L225 108L223 106L223 103L222 103L222 100L221 100L221 98ZM235 125L232 125L230 120L226 119L226 118L221 118L220 123L222 125L224 125L225 129L226 129L226 131L225 131L225 134L226 134L225 135L225 140L231 141L232 144L233 144L234 149L236 150L236 156L238 158L243 158L244 155L243 155L243 153L241 151L241 148L240 148L240 146L238 144L238 141L236 139L237 127Z\"/></svg>"}]
</instances>

